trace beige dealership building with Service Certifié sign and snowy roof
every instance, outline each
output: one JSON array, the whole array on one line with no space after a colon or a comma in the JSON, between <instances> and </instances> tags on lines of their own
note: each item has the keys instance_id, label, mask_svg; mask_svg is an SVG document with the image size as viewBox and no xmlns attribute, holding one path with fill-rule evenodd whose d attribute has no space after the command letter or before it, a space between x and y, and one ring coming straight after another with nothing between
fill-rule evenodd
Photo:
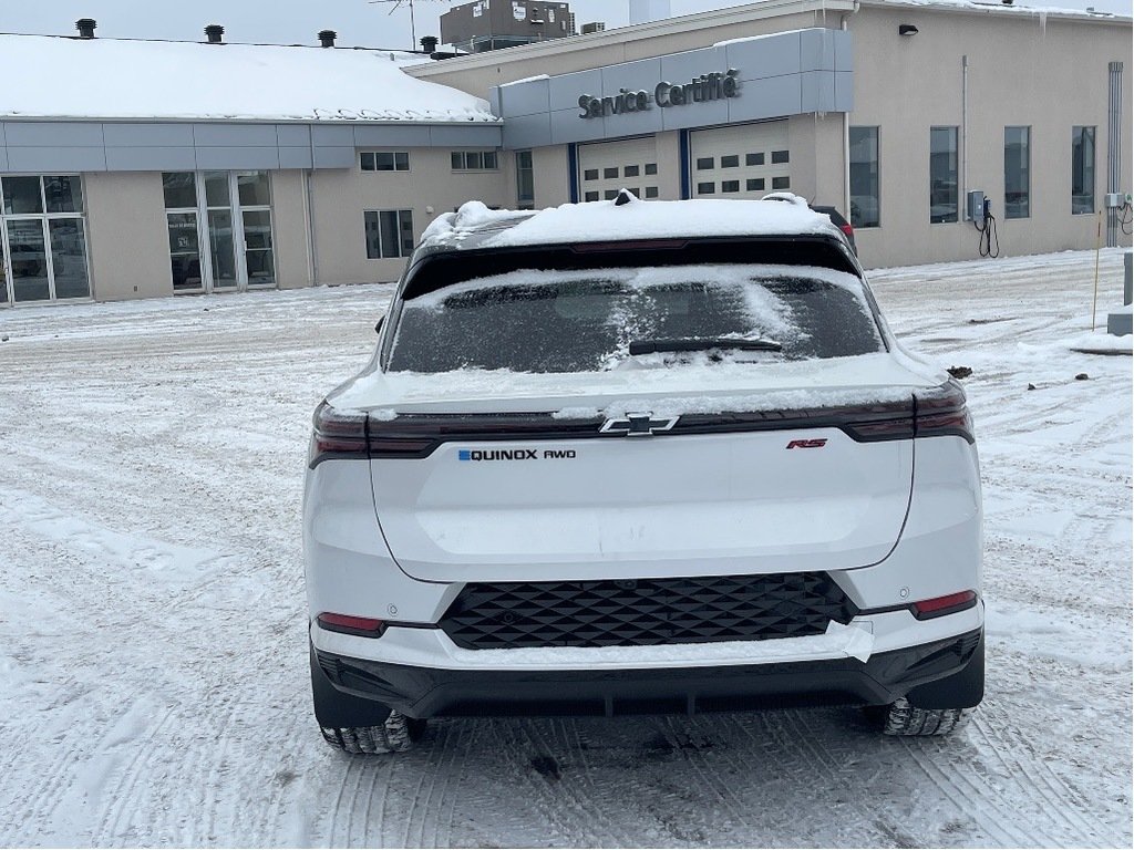
<instances>
[{"instance_id":1,"label":"beige dealership building with Service Certifi\u00e9 sign and snowy roof","mask_svg":"<svg viewBox=\"0 0 1134 850\"><path fill-rule=\"evenodd\" d=\"M1006 255L1131 244L1129 17L764 0L440 61L92 23L0 35L3 306L389 281L465 201L624 187L790 190L868 267L980 256L971 193Z\"/></svg>"}]
</instances>

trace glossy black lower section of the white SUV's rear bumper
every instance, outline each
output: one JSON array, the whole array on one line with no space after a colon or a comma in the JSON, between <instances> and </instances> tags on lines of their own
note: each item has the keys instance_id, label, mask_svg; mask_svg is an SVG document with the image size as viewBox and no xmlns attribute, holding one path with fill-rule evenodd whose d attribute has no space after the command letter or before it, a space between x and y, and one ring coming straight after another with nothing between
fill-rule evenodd
<instances>
[{"instance_id":1,"label":"glossy black lower section of the white SUV's rear bumper","mask_svg":"<svg viewBox=\"0 0 1134 850\"><path fill-rule=\"evenodd\" d=\"M336 690L412 717L694 714L798 705L881 705L963 670L981 629L855 658L618 670L452 670L316 649Z\"/></svg>"}]
</instances>

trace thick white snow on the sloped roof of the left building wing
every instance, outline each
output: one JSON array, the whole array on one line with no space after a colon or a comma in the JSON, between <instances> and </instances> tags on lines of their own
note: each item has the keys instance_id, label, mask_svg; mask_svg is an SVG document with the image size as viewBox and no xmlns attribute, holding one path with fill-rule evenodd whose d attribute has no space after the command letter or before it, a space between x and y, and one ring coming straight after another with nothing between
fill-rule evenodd
<instances>
[{"instance_id":1,"label":"thick white snow on the sloped roof of the left building wing","mask_svg":"<svg viewBox=\"0 0 1134 850\"><path fill-rule=\"evenodd\" d=\"M0 34L0 117L499 120L480 97L404 74L407 56Z\"/></svg>"}]
</instances>

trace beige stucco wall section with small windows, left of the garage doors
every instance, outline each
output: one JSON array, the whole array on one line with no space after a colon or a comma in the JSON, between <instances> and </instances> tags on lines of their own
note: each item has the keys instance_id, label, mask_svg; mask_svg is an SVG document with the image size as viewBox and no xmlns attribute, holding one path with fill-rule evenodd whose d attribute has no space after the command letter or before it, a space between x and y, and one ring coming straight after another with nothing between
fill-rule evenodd
<instances>
[{"instance_id":1,"label":"beige stucco wall section with small windows, left of the garage doors","mask_svg":"<svg viewBox=\"0 0 1134 850\"><path fill-rule=\"evenodd\" d=\"M449 148L409 150L408 171L316 170L312 176L316 280L319 283L370 283L397 280L405 258L367 260L363 213L366 210L412 210L414 238L434 218L466 201L514 206L508 177L498 171L454 171ZM511 155L500 154L501 165ZM509 165L514 168L514 165ZM539 185L540 176L536 176ZM428 209L429 207L429 209Z\"/></svg>"}]
</instances>

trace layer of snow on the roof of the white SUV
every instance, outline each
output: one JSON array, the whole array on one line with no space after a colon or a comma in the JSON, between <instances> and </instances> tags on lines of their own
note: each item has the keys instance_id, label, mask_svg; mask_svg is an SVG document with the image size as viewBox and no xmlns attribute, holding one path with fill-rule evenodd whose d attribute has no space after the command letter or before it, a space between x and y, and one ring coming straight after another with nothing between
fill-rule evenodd
<instances>
[{"instance_id":1,"label":"layer of snow on the roof of the white SUV","mask_svg":"<svg viewBox=\"0 0 1134 850\"><path fill-rule=\"evenodd\" d=\"M469 236L484 231L497 232L479 239L479 248L680 237L839 235L830 218L788 193L761 201L638 201L624 193L620 203L592 201L535 213L489 210L471 201L455 213L438 216L422 233L422 245L459 247Z\"/></svg>"}]
</instances>

